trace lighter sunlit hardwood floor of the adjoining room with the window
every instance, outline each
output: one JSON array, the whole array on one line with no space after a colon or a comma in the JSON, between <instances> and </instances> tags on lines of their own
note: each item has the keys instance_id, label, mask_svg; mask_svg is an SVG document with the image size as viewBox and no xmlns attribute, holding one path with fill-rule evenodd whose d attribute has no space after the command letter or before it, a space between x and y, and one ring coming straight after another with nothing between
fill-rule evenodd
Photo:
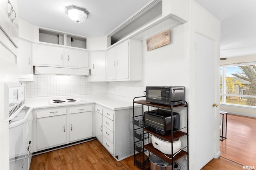
<instances>
[{"instance_id":1,"label":"lighter sunlit hardwood floor of the adjoining room with the window","mask_svg":"<svg viewBox=\"0 0 256 170\"><path fill-rule=\"evenodd\" d=\"M221 156L256 167L256 118L228 114L227 139L220 141Z\"/></svg>"}]
</instances>

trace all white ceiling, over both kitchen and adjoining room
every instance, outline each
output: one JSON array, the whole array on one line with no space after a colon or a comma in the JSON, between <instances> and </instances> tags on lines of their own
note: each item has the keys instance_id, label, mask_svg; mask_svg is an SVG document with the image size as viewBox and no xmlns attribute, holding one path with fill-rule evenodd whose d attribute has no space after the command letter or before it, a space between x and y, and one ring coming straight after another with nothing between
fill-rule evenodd
<instances>
[{"instance_id":1,"label":"all white ceiling, over both kitchen and adjoining room","mask_svg":"<svg viewBox=\"0 0 256 170\"><path fill-rule=\"evenodd\" d=\"M108 35L153 0L18 0L19 17L50 29L86 37ZM220 57L256 54L256 0L195 0L221 21ZM90 12L76 23L65 7L76 5Z\"/></svg>"}]
</instances>

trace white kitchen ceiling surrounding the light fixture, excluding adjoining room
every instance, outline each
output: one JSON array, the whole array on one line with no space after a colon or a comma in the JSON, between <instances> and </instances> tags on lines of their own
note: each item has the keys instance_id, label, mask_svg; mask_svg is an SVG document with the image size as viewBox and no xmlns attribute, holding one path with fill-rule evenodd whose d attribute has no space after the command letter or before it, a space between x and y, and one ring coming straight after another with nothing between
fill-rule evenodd
<instances>
[{"instance_id":1,"label":"white kitchen ceiling surrounding the light fixture, excluding adjoining room","mask_svg":"<svg viewBox=\"0 0 256 170\"><path fill-rule=\"evenodd\" d=\"M33 25L86 37L108 35L152 0L18 0L19 17ZM66 6L86 8L90 14L76 23Z\"/></svg>"}]
</instances>

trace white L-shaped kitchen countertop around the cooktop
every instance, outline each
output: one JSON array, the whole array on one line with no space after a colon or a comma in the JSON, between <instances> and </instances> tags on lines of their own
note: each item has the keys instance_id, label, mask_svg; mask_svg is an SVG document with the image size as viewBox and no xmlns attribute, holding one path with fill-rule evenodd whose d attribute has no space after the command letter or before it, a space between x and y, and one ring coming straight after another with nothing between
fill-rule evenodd
<instances>
[{"instance_id":1,"label":"white L-shaped kitchen countertop around the cooktop","mask_svg":"<svg viewBox=\"0 0 256 170\"><path fill-rule=\"evenodd\" d=\"M50 104L50 100L67 99L67 98L81 98L84 101L81 102L64 102L60 104ZM57 96L57 97L43 97L43 98L26 98L26 106L33 107L33 109L59 107L59 106L74 106L81 104L98 104L111 110L130 109L133 107L132 100L119 100L110 98L107 95L83 95L83 96ZM134 104L135 107L140 107L138 104Z\"/></svg>"}]
</instances>

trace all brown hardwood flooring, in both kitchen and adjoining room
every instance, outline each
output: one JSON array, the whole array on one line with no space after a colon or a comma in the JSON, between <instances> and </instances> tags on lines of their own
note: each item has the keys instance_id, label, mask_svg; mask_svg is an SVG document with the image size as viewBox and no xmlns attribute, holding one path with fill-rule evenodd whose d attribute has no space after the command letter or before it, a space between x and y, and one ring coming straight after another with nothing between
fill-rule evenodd
<instances>
[{"instance_id":1,"label":"all brown hardwood flooring, in both kitchen and adjoining room","mask_svg":"<svg viewBox=\"0 0 256 170\"><path fill-rule=\"evenodd\" d=\"M202 170L242 170L256 167L256 118L228 114L227 139L221 157ZM236 163L238 162L238 163ZM98 140L32 156L30 170L140 170L130 156L117 162Z\"/></svg>"}]
</instances>

